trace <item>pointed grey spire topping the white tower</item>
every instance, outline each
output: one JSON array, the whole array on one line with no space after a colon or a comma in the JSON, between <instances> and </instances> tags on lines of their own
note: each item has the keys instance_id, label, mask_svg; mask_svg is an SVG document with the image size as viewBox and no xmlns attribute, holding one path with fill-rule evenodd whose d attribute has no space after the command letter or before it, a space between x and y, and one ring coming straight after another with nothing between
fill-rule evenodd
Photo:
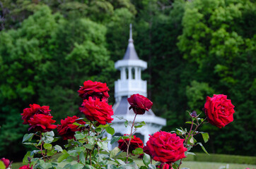
<instances>
[{"instance_id":1,"label":"pointed grey spire topping the white tower","mask_svg":"<svg viewBox=\"0 0 256 169\"><path fill-rule=\"evenodd\" d=\"M129 25L129 44L127 46L123 60L139 60L139 57L134 48L134 40L132 39L132 23Z\"/></svg>"}]
</instances>

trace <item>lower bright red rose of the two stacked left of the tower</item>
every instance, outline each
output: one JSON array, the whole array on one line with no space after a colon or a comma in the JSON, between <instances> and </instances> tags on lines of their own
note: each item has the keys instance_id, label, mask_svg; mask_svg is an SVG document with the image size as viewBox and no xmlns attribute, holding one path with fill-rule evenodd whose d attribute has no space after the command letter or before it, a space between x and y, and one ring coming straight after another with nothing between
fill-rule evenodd
<instances>
[{"instance_id":1,"label":"lower bright red rose of the two stacked left of the tower","mask_svg":"<svg viewBox=\"0 0 256 169\"><path fill-rule=\"evenodd\" d=\"M112 123L113 118L111 118L111 115L114 115L113 109L106 101L93 100L92 97L89 97L89 100L83 100L82 106L79 110L86 115L88 120L98 121L101 125Z\"/></svg>"}]
</instances>

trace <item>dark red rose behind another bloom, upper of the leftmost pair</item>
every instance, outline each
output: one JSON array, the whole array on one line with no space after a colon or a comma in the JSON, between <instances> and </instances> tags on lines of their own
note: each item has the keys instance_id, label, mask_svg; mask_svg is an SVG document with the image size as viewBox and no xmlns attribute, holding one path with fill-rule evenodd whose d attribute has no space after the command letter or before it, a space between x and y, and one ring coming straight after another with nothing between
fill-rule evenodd
<instances>
[{"instance_id":1,"label":"dark red rose behind another bloom, upper of the leftmost pair","mask_svg":"<svg viewBox=\"0 0 256 169\"><path fill-rule=\"evenodd\" d=\"M30 108L24 108L22 115L22 120L24 120L23 124L28 124L28 120L30 118L33 118L33 115L35 114L45 114L45 115L51 115L49 110L49 106L40 106L38 104L30 104Z\"/></svg>"}]
</instances>

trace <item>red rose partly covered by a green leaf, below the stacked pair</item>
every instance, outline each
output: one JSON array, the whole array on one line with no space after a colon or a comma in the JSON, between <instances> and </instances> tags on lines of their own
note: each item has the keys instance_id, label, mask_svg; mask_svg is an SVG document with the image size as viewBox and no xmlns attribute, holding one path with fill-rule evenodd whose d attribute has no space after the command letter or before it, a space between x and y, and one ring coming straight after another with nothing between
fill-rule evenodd
<instances>
[{"instance_id":1,"label":"red rose partly covered by a green leaf, below the stacked pair","mask_svg":"<svg viewBox=\"0 0 256 169\"><path fill-rule=\"evenodd\" d=\"M78 128L78 125L73 125L73 123L78 123L81 125L85 125L86 123L83 120L76 120L78 117L74 115L73 117L67 117L65 120L61 120L62 125L58 125L57 130L59 135L62 136L63 139L74 139L74 134L76 131L82 131L83 127Z\"/></svg>"}]
</instances>

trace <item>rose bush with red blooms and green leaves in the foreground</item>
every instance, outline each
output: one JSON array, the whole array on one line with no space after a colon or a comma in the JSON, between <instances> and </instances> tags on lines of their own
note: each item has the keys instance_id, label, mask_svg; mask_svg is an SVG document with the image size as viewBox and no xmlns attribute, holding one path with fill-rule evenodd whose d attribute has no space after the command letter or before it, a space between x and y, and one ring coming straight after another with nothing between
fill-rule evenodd
<instances>
[{"instance_id":1,"label":"rose bush with red blooms and green leaves in the foreground","mask_svg":"<svg viewBox=\"0 0 256 169\"><path fill-rule=\"evenodd\" d=\"M33 146L23 158L23 165L20 169L179 169L182 158L185 158L191 149L199 145L207 153L197 137L202 136L204 142L208 142L209 135L200 132L199 127L206 123L206 119L217 127L223 127L233 120L233 105L223 94L207 97L204 111L207 118L199 118L196 111L189 113L189 130L182 127L171 132L156 132L149 137L146 145L134 134L139 127L146 125L144 122L136 123L136 115L149 111L153 103L144 96L134 94L127 99L131 105L129 109L134 111L134 120L129 122L124 118L124 125L131 127L130 134L124 136L107 136L115 134L111 127L113 118L112 106L107 103L108 87L102 82L88 80L78 90L83 104L79 108L85 118L76 116L67 117L61 121L61 125L54 125L49 106L30 104L25 108L22 115L24 124L29 124L29 134L23 137L23 144ZM53 129L57 128L59 135L67 140L67 144L59 146L54 143L59 137L54 137ZM33 130L31 130L33 129ZM34 131L34 132L31 132ZM106 134L107 133L107 134ZM119 146L111 151L107 144L118 142ZM125 157L120 156L123 151ZM58 156L55 156L59 154ZM131 158L132 155L139 155L144 165L140 167ZM157 161L153 165L152 160ZM2 162L4 161L4 162ZM4 169L10 167L5 158L1 158L0 165Z\"/></svg>"}]
</instances>

